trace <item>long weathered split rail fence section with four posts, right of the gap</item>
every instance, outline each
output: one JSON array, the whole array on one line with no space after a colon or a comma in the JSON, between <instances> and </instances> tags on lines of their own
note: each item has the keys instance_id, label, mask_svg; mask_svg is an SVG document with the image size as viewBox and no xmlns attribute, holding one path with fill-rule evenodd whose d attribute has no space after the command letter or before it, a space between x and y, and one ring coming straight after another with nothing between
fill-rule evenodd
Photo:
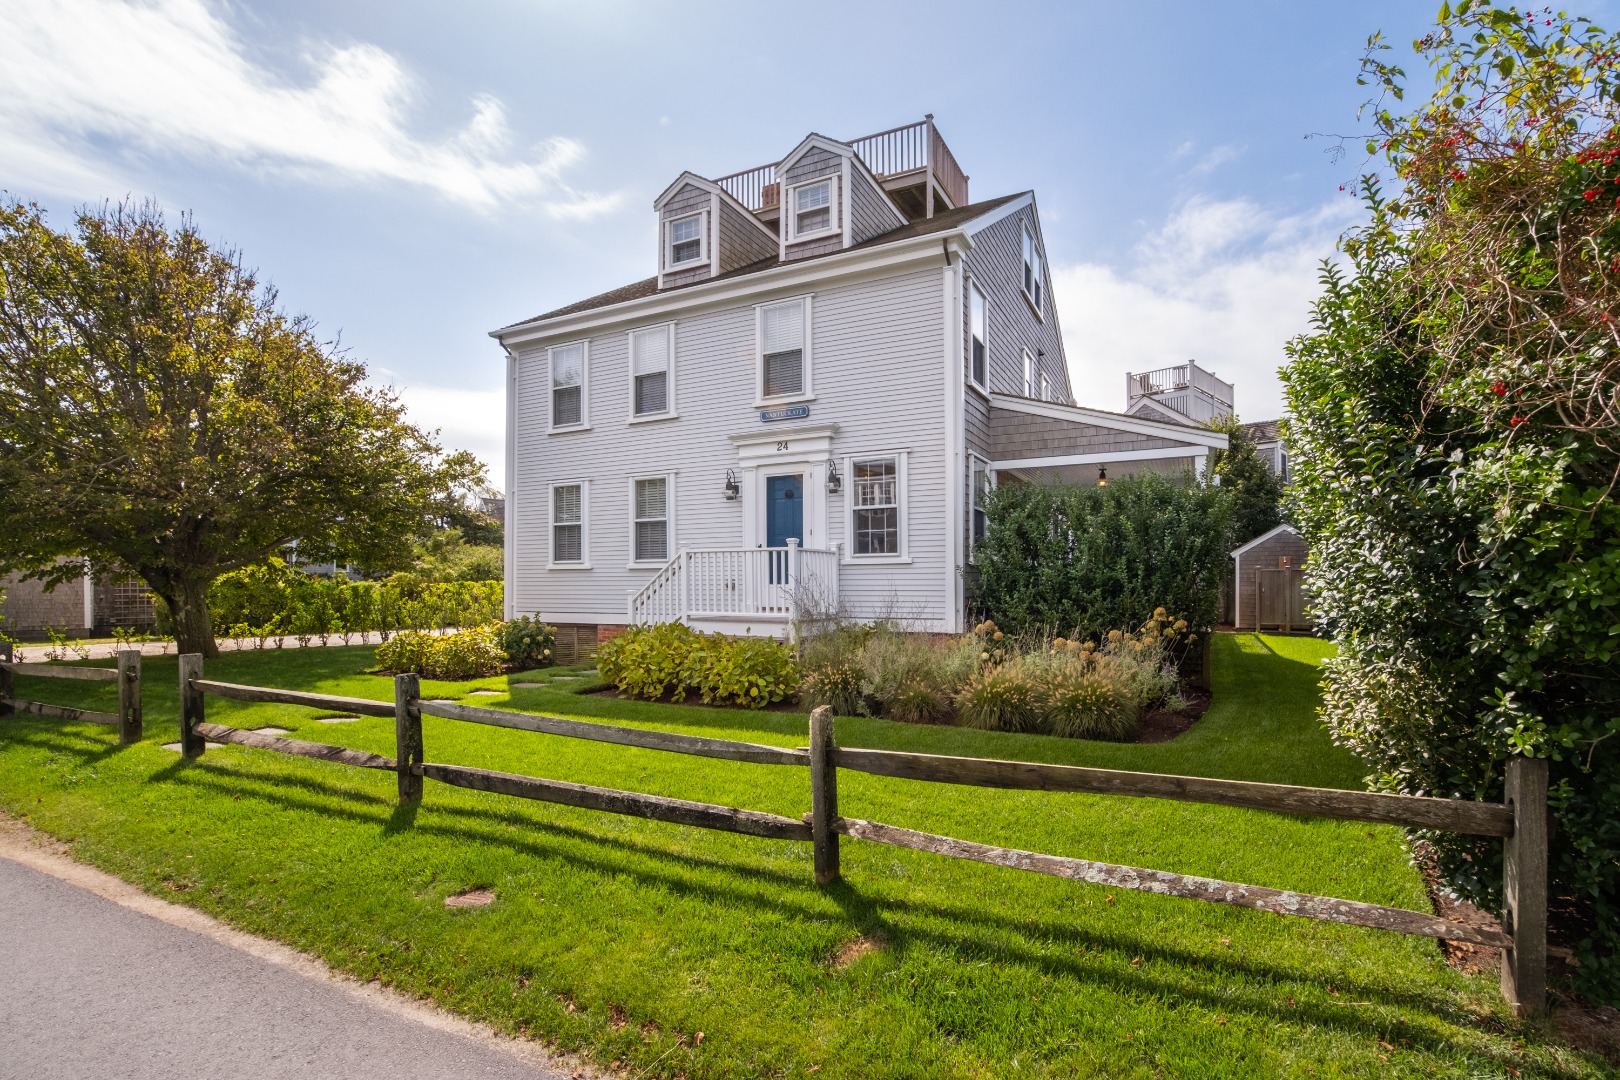
<instances>
[{"instance_id":1,"label":"long weathered split rail fence section with four posts, right of the gap","mask_svg":"<svg viewBox=\"0 0 1620 1080\"><path fill-rule=\"evenodd\" d=\"M384 758L326 743L309 743L209 724L204 719L206 695L237 701L269 701L321 709L343 709L363 716L392 716L397 746L395 756ZM1464 941L1503 952L1502 993L1521 1015L1539 1012L1545 1004L1547 763L1541 759L1511 758L1507 763L1505 800L1502 803L1479 803L1379 792L1346 792L1291 784L1254 784L1247 780L1220 780L1158 772L1089 769L1030 761L860 750L838 745L833 714L826 708L818 708L810 714L810 746L784 748L564 721L507 709L423 701L416 675L395 677L392 703L274 690L269 687L243 687L202 678L202 657L194 654L180 657L180 701L181 751L188 758L201 756L206 740L215 740L305 758L339 761L363 769L390 771L399 779L399 798L402 803L416 801L423 797L423 780L437 780L452 787L630 814L653 821L671 821L701 829L742 832L776 840L805 840L813 845L815 878L823 884L838 879L839 837L847 836L859 840L889 844L917 852L933 852L936 855L966 858L993 866L1009 866L1055 878L1087 881L1115 889L1137 889L1171 897L1246 907L1259 912L1275 912L1278 915L1371 926L1374 929L1421 934L1443 941ZM666 750L700 758L807 767L810 771L810 813L804 814L804 818L784 818L757 810L739 810L735 806L428 761L421 733L423 716L617 743L622 746L640 746L645 750ZM938 784L1170 798L1346 821L1372 821L1413 829L1497 836L1503 839L1507 857L1503 871L1503 929L1469 926L1424 912L1409 912L1377 904L991 847L988 844L957 840L915 829L901 829L876 821L846 818L838 811L839 769Z\"/></svg>"}]
</instances>

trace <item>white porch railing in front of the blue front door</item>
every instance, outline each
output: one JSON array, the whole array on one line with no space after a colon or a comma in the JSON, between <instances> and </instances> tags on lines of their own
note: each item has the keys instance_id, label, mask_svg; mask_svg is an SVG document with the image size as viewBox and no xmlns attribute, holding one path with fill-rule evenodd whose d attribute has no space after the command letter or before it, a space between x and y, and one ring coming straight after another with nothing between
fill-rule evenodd
<instances>
[{"instance_id":1,"label":"white porch railing in front of the blue front door","mask_svg":"<svg viewBox=\"0 0 1620 1080\"><path fill-rule=\"evenodd\" d=\"M838 552L799 547L708 547L682 551L640 593L630 594L630 623L695 619L758 619L794 623L807 604L838 599Z\"/></svg>"}]
</instances>

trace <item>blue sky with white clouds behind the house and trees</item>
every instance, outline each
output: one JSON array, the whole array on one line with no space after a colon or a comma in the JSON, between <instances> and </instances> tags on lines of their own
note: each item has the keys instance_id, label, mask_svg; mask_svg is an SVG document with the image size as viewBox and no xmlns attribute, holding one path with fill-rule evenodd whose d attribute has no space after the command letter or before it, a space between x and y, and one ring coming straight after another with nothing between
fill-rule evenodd
<instances>
[{"instance_id":1,"label":"blue sky with white clouds behind the house and trees","mask_svg":"<svg viewBox=\"0 0 1620 1080\"><path fill-rule=\"evenodd\" d=\"M932 112L975 199L1035 189L1082 403L1194 356L1264 419L1358 217L1306 136L1435 6L0 0L0 188L191 210L499 478L488 330L651 274L684 168Z\"/></svg>"}]
</instances>

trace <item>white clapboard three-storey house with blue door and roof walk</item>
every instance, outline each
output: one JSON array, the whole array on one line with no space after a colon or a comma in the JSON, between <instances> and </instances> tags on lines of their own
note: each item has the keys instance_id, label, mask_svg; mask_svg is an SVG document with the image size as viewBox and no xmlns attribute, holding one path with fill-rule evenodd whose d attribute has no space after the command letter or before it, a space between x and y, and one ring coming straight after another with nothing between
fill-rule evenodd
<instances>
[{"instance_id":1,"label":"white clapboard three-storey house with blue door and roof walk","mask_svg":"<svg viewBox=\"0 0 1620 1080\"><path fill-rule=\"evenodd\" d=\"M656 274L492 332L509 615L957 631L990 484L1226 445L1071 403L1035 196L972 202L932 117L682 173L653 210Z\"/></svg>"}]
</instances>

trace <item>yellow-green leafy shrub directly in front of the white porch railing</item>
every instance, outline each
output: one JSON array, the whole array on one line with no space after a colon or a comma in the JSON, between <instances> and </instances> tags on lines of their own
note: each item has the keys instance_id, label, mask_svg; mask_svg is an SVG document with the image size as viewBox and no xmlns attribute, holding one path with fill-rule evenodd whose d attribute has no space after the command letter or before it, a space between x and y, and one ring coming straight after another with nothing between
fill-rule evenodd
<instances>
[{"instance_id":1,"label":"yellow-green leafy shrub directly in front of the white porch railing","mask_svg":"<svg viewBox=\"0 0 1620 1080\"><path fill-rule=\"evenodd\" d=\"M792 651L770 638L698 633L682 623L630 627L596 649L596 670L633 698L763 709L799 688Z\"/></svg>"}]
</instances>

